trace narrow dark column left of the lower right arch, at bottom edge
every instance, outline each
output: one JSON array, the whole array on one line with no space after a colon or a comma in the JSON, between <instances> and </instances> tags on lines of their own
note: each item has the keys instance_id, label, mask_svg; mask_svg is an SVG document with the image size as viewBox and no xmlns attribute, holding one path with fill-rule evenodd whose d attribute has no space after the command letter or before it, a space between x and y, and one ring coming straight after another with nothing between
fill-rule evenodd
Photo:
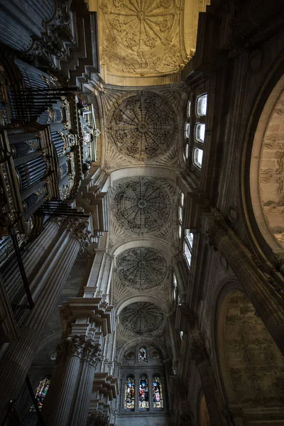
<instances>
[{"instance_id":1,"label":"narrow dark column left of the lower right arch, at bottom edge","mask_svg":"<svg viewBox=\"0 0 284 426\"><path fill-rule=\"evenodd\" d=\"M204 341L200 333L196 331L192 332L191 339L191 356L200 374L200 381L202 383L202 390L204 392L211 425L225 426L227 422L223 413L221 400L219 399L214 371L210 364Z\"/></svg>"}]
</instances>

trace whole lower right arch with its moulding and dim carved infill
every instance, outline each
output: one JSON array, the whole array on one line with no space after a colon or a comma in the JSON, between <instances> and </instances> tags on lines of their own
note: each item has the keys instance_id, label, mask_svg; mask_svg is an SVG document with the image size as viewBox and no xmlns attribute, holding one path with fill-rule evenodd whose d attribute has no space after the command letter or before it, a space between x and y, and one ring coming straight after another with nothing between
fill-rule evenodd
<instances>
[{"instance_id":1,"label":"whole lower right arch with its moulding and dim carved infill","mask_svg":"<svg viewBox=\"0 0 284 426\"><path fill-rule=\"evenodd\" d=\"M228 404L259 410L266 425L273 424L284 404L284 358L243 291L228 291L218 310L219 366Z\"/></svg>"}]
</instances>

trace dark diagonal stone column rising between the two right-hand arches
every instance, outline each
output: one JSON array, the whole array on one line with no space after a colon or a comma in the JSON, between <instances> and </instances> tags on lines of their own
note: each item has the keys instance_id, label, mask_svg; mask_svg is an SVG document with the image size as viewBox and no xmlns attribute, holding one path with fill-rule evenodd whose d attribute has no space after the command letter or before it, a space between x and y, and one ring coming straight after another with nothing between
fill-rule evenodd
<instances>
[{"instance_id":1,"label":"dark diagonal stone column rising between the two right-hand arches","mask_svg":"<svg viewBox=\"0 0 284 426\"><path fill-rule=\"evenodd\" d=\"M250 253L234 231L219 215L207 215L209 244L219 250L228 261L244 292L266 325L271 336L284 354L284 300L273 278L268 280L262 265L253 261Z\"/></svg>"}]
</instances>

